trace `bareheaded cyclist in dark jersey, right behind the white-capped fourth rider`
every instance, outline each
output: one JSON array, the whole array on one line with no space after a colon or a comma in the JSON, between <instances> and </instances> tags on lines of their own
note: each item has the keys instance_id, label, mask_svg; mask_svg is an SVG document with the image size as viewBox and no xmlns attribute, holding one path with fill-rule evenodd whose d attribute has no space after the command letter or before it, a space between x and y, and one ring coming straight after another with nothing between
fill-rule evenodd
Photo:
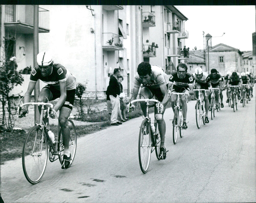
<instances>
[{"instance_id":1,"label":"bareheaded cyclist in dark jersey, right behind the white-capped fourth rider","mask_svg":"<svg viewBox=\"0 0 256 203\"><path fill-rule=\"evenodd\" d=\"M219 90L221 90L221 87L222 87L222 79L221 79L221 75L220 73L218 73L218 71L213 68L211 70L211 74L209 75L209 78L211 80L211 85L212 87L214 88L219 88ZM215 98L216 98L216 109L219 108L219 92L218 90L214 90L214 94L215 94ZM222 99L223 99L223 95L222 95ZM209 97L209 102L211 103L211 97ZM223 103L221 102L221 108L223 108L224 105ZM209 111L211 111L211 107L209 107Z\"/></svg>"}]
</instances>

